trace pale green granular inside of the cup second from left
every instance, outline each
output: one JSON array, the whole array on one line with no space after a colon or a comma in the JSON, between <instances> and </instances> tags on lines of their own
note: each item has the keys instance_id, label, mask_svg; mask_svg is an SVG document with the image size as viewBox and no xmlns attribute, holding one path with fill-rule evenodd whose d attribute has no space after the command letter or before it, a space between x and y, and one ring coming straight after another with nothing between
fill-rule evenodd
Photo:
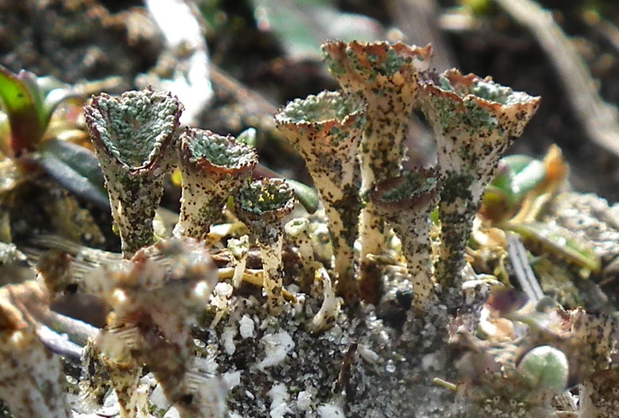
<instances>
[{"instance_id":1,"label":"pale green granular inside of the cup second from left","mask_svg":"<svg viewBox=\"0 0 619 418\"><path fill-rule=\"evenodd\" d=\"M240 168L257 158L253 147L237 142L231 136L193 129L186 140L191 152L191 163L206 159L222 167Z\"/></svg>"}]
</instances>

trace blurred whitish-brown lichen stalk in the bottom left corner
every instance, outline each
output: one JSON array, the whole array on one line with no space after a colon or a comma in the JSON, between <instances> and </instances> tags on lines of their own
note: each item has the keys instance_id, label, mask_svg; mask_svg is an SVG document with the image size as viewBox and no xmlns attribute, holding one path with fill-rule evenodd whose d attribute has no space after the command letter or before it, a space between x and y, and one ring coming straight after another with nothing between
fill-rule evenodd
<instances>
[{"instance_id":1,"label":"blurred whitish-brown lichen stalk in the bottom left corner","mask_svg":"<svg viewBox=\"0 0 619 418\"><path fill-rule=\"evenodd\" d=\"M17 418L69 418L62 361L40 341L24 302L50 300L35 282L0 289L0 399Z\"/></svg>"}]
</instances>

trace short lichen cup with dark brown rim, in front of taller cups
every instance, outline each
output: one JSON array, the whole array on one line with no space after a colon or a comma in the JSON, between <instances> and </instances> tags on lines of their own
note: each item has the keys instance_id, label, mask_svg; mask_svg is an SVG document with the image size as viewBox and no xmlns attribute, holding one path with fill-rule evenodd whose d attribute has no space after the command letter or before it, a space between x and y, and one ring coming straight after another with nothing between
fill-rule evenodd
<instances>
[{"instance_id":1,"label":"short lichen cup with dark brown rim, in front of taller cups","mask_svg":"<svg viewBox=\"0 0 619 418\"><path fill-rule=\"evenodd\" d=\"M430 213L436 208L440 190L436 170L418 170L381 181L370 193L376 211L391 224L402 242L413 283L413 308L418 313L435 296Z\"/></svg>"}]
</instances>

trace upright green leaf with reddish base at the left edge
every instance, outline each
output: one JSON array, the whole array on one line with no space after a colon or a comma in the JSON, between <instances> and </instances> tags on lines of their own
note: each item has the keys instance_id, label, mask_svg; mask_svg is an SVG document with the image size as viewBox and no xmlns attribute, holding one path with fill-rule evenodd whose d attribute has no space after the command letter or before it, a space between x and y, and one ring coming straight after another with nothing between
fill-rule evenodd
<instances>
[{"instance_id":1,"label":"upright green leaf with reddish base at the left edge","mask_svg":"<svg viewBox=\"0 0 619 418\"><path fill-rule=\"evenodd\" d=\"M2 138L2 152L15 157L35 149L45 132L37 76L24 70L14 74L0 65L0 100L11 126L10 137Z\"/></svg>"}]
</instances>

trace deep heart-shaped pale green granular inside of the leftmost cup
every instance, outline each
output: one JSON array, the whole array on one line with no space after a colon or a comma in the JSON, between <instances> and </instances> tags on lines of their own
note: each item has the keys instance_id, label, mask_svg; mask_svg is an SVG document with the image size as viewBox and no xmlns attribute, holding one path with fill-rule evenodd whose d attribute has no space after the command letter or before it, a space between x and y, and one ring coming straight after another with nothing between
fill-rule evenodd
<instances>
[{"instance_id":1,"label":"deep heart-shaped pale green granular inside of the leftmost cup","mask_svg":"<svg viewBox=\"0 0 619 418\"><path fill-rule=\"evenodd\" d=\"M121 98L101 95L93 102L93 128L106 152L129 167L152 162L178 126L180 103L152 90L127 92Z\"/></svg>"}]
</instances>

